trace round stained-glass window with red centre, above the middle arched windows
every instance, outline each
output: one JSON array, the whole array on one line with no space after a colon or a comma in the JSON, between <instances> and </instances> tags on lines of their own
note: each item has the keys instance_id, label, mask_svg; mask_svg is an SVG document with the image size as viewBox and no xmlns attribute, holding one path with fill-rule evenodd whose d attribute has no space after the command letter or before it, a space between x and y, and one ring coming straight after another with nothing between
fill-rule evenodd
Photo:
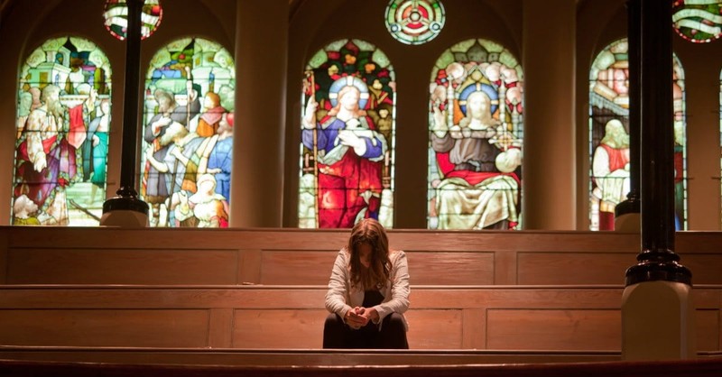
<instances>
[{"instance_id":1,"label":"round stained-glass window with red centre, above the middle arched windows","mask_svg":"<svg viewBox=\"0 0 722 377\"><path fill-rule=\"evenodd\" d=\"M439 0L391 0L386 6L386 28L393 38L406 44L421 44L436 38L446 15Z\"/></svg>"}]
</instances>

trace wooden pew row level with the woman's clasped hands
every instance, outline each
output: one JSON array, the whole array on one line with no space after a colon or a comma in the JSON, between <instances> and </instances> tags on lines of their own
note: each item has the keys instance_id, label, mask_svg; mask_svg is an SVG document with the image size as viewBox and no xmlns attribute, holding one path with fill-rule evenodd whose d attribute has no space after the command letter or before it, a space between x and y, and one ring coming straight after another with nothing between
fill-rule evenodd
<instances>
[{"instance_id":1,"label":"wooden pew row level with the woman's clasped hands","mask_svg":"<svg viewBox=\"0 0 722 377\"><path fill-rule=\"evenodd\" d=\"M5 286L0 345L318 349L323 286ZM621 286L412 286L419 350L613 351ZM699 351L719 352L722 286L693 290Z\"/></svg>"}]
</instances>

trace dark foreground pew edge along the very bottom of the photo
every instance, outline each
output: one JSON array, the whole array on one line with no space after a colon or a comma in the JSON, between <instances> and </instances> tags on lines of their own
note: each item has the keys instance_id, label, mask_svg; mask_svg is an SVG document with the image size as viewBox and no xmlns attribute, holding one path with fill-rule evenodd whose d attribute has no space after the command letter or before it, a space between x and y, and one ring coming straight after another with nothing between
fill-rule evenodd
<instances>
[{"instance_id":1,"label":"dark foreground pew edge along the very bottom of the photo","mask_svg":"<svg viewBox=\"0 0 722 377\"><path fill-rule=\"evenodd\" d=\"M153 377L327 377L348 373L375 377L717 377L722 359L707 358L662 362L521 363L458 365L167 365L117 363L58 363L0 360L0 374L32 376L153 376Z\"/></svg>"}]
</instances>

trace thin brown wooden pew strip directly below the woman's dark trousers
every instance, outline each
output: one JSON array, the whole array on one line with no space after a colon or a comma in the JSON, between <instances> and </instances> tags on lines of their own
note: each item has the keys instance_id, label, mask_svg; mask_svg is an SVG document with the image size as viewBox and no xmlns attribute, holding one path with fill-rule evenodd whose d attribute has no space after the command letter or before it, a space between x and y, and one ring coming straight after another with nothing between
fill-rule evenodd
<instances>
[{"instance_id":1,"label":"thin brown wooden pew strip directly below the woman's dark trousers","mask_svg":"<svg viewBox=\"0 0 722 377\"><path fill-rule=\"evenodd\" d=\"M702 355L702 357L705 357ZM226 366L462 365L619 361L616 351L299 350L0 346L0 361ZM2 373L0 373L2 375Z\"/></svg>"}]
</instances>

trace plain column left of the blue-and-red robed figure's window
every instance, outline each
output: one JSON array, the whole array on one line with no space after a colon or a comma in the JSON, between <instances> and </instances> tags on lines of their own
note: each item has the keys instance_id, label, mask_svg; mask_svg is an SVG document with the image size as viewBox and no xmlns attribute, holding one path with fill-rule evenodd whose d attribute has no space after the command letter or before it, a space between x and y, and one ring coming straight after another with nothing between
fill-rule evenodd
<instances>
[{"instance_id":1,"label":"plain column left of the blue-and-red robed figure's window","mask_svg":"<svg viewBox=\"0 0 722 377\"><path fill-rule=\"evenodd\" d=\"M233 227L282 226L288 11L287 0L236 5Z\"/></svg>"}]
</instances>

